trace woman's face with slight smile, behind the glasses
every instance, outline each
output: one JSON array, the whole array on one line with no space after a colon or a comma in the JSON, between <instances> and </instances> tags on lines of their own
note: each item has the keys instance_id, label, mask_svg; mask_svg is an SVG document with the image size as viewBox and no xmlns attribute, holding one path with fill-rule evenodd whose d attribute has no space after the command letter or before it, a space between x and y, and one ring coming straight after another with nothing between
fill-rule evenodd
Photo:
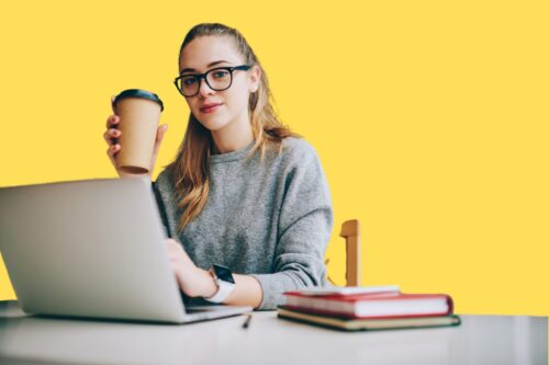
<instances>
[{"instance_id":1,"label":"woman's face with slight smile, behind the glasses","mask_svg":"<svg viewBox=\"0 0 549 365\"><path fill-rule=\"evenodd\" d=\"M227 36L197 37L187 44L179 59L180 75L204 73L217 67L245 65L244 57ZM258 87L259 68L256 66L248 71L234 70L231 87L223 91L212 90L201 79L199 93L186 100L194 117L205 128L216 132L234 123L249 125L248 98Z\"/></svg>"}]
</instances>

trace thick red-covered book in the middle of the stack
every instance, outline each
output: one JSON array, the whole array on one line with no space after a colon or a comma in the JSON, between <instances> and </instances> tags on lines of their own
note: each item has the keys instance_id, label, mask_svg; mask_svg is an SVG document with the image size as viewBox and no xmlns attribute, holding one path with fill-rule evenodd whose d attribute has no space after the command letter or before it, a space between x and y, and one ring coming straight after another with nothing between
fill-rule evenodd
<instances>
[{"instance_id":1,"label":"thick red-covered book in the middle of the stack","mask_svg":"<svg viewBox=\"0 0 549 365\"><path fill-rule=\"evenodd\" d=\"M300 290L284 295L285 308L347 318L436 317L453 311L453 300L446 294L379 292L320 296Z\"/></svg>"}]
</instances>

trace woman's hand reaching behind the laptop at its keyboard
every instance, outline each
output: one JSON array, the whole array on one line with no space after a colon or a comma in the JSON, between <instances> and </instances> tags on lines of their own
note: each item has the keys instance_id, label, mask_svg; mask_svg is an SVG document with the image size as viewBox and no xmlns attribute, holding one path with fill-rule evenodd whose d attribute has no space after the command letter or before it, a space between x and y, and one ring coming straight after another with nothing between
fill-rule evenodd
<instances>
[{"instance_id":1,"label":"woman's hand reaching behind the laptop at its keyboard","mask_svg":"<svg viewBox=\"0 0 549 365\"><path fill-rule=\"evenodd\" d=\"M181 290L190 297L212 297L217 292L213 276L197 267L179 242L169 238L166 244L171 269Z\"/></svg>"}]
</instances>

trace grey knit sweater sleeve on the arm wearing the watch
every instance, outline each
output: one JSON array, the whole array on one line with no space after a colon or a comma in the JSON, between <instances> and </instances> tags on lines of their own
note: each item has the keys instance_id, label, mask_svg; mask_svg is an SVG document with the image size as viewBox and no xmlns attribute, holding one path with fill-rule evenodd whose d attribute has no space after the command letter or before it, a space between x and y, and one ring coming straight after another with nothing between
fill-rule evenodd
<instances>
[{"instance_id":1,"label":"grey knit sweater sleeve on the arm wearing the watch","mask_svg":"<svg viewBox=\"0 0 549 365\"><path fill-rule=\"evenodd\" d=\"M284 169L272 274L253 274L264 297L258 309L283 304L283 292L325 284L324 254L334 218L326 176L315 150L302 145Z\"/></svg>"}]
</instances>

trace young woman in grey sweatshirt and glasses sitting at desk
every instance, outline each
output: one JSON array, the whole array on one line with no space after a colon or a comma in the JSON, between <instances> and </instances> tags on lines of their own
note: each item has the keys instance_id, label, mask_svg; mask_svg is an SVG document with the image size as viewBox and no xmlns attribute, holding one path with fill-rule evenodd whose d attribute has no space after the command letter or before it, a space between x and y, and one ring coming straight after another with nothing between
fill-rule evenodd
<instances>
[{"instance_id":1,"label":"young woman in grey sweatshirt and glasses sitting at desk","mask_svg":"<svg viewBox=\"0 0 549 365\"><path fill-rule=\"evenodd\" d=\"M217 23L192 27L175 83L189 122L153 187L180 289L274 309L283 292L324 285L333 228L326 178L314 148L278 121L267 75L244 36ZM114 167L124 148L119 122L111 115L104 133ZM158 127L150 171L166 130Z\"/></svg>"}]
</instances>

